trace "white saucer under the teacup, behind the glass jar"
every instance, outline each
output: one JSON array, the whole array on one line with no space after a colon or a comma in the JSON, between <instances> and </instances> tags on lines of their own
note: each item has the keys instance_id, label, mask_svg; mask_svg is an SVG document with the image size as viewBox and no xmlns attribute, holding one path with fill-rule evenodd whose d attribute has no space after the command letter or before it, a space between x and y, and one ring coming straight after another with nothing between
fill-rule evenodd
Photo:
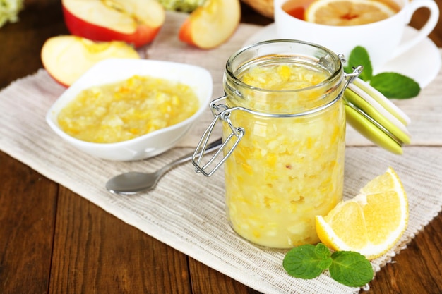
<instances>
[{"instance_id":1,"label":"white saucer under the teacup, behind the glass jar","mask_svg":"<svg viewBox=\"0 0 442 294\"><path fill-rule=\"evenodd\" d=\"M412 37L416 32L417 30L413 27L405 27L403 39ZM277 39L275 23L263 27L262 30L259 30L256 34L249 37L249 39L244 42L244 45L269 39ZM406 75L418 82L421 88L424 88L436 78L440 70L441 52L431 39L426 38L414 48L388 61L377 73L402 73L402 75Z\"/></svg>"}]
</instances>

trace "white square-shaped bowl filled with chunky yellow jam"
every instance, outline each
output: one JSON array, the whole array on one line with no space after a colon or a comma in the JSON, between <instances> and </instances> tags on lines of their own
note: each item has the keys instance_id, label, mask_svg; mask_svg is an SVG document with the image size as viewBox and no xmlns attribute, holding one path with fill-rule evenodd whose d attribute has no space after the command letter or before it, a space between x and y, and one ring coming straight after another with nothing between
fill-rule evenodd
<instances>
[{"instance_id":1,"label":"white square-shaped bowl filled with chunky yellow jam","mask_svg":"<svg viewBox=\"0 0 442 294\"><path fill-rule=\"evenodd\" d=\"M107 59L68 87L46 120L92 157L145 159L177 145L208 106L212 85L198 66Z\"/></svg>"}]
</instances>

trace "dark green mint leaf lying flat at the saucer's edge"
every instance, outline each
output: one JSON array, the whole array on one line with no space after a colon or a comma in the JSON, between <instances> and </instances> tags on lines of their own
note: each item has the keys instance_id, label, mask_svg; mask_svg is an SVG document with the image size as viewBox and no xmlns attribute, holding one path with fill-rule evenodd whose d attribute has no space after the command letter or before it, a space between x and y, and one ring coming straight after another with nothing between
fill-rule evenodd
<instances>
[{"instance_id":1,"label":"dark green mint leaf lying flat at the saucer's edge","mask_svg":"<svg viewBox=\"0 0 442 294\"><path fill-rule=\"evenodd\" d=\"M371 78L370 85L387 98L397 99L416 97L421 90L417 82L400 73L379 73Z\"/></svg>"}]
</instances>

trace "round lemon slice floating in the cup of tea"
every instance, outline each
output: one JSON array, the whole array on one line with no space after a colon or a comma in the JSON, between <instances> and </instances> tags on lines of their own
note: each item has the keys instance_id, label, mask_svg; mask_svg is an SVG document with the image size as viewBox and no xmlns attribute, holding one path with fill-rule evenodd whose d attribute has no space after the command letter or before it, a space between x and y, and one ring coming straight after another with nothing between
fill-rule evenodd
<instances>
[{"instance_id":1,"label":"round lemon slice floating in the cup of tea","mask_svg":"<svg viewBox=\"0 0 442 294\"><path fill-rule=\"evenodd\" d=\"M396 11L376 0L316 0L304 19L321 25L364 25L393 16Z\"/></svg>"}]
</instances>

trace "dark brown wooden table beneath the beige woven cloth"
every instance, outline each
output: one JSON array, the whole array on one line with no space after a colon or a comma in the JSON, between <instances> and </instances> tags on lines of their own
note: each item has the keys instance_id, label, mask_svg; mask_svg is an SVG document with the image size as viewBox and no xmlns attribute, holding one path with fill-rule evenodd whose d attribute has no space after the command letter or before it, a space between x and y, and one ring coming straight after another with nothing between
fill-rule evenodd
<instances>
[{"instance_id":1,"label":"dark brown wooden table beneath the beige woven cloth","mask_svg":"<svg viewBox=\"0 0 442 294\"><path fill-rule=\"evenodd\" d=\"M20 22L0 29L0 89L41 68L44 40L67 33L59 1L25 4ZM243 15L272 22L245 6ZM425 17L420 11L412 23ZM431 39L442 47L441 22ZM0 163L0 293L257 293L3 152ZM370 293L442 293L441 232L439 214L377 274Z\"/></svg>"}]
</instances>

